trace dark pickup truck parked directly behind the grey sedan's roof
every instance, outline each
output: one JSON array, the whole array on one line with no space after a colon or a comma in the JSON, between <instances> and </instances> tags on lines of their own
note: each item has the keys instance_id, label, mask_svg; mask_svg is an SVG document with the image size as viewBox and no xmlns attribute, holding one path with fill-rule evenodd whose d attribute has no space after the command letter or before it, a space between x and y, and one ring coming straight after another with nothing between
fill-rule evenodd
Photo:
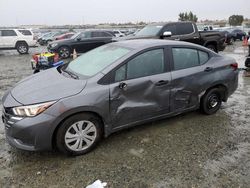
<instances>
[{"instance_id":1,"label":"dark pickup truck parked directly behind the grey sedan's roof","mask_svg":"<svg viewBox=\"0 0 250 188\"><path fill-rule=\"evenodd\" d=\"M170 22L154 23L141 29L134 36L114 39L168 39L186 41L205 46L215 52L223 51L225 45L225 35L218 31L198 31L193 22Z\"/></svg>"}]
</instances>

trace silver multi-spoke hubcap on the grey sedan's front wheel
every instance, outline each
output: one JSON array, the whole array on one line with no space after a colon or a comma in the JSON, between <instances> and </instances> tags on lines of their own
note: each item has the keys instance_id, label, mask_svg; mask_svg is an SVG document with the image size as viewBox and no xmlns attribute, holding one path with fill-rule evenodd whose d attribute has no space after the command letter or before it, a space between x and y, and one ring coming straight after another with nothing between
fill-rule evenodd
<instances>
[{"instance_id":1,"label":"silver multi-spoke hubcap on the grey sedan's front wheel","mask_svg":"<svg viewBox=\"0 0 250 188\"><path fill-rule=\"evenodd\" d=\"M95 125L87 120L71 125L64 136L66 146L72 151L83 151L89 148L96 139Z\"/></svg>"}]
</instances>

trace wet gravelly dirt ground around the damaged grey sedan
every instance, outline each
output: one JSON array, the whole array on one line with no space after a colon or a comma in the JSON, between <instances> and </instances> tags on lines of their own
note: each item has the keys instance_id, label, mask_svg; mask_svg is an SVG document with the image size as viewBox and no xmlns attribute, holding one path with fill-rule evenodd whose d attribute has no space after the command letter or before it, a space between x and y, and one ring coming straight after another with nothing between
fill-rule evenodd
<instances>
[{"instance_id":1,"label":"wet gravelly dirt ground around the damaged grey sedan","mask_svg":"<svg viewBox=\"0 0 250 188\"><path fill-rule=\"evenodd\" d=\"M240 67L246 53L241 43L223 52ZM32 74L30 58L0 51L0 97ZM121 131L74 158L14 149L1 122L0 187L85 187L96 179L108 188L249 187L249 104L250 78L241 73L238 90L217 114L195 111Z\"/></svg>"}]
</instances>

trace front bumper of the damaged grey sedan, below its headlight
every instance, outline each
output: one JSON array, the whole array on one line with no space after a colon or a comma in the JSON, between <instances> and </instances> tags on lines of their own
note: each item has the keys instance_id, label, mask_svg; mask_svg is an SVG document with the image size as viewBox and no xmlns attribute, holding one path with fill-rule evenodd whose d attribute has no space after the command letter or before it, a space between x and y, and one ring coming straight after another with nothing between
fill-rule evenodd
<instances>
[{"instance_id":1,"label":"front bumper of the damaged grey sedan, below its headlight","mask_svg":"<svg viewBox=\"0 0 250 188\"><path fill-rule=\"evenodd\" d=\"M4 109L2 120L10 145L28 151L52 149L54 116L42 113L35 117L18 118Z\"/></svg>"}]
</instances>

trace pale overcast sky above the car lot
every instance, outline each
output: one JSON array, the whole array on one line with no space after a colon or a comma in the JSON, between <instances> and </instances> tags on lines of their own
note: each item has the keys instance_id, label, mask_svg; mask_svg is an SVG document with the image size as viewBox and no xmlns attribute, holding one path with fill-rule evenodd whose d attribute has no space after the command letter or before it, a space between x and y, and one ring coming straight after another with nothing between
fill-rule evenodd
<instances>
[{"instance_id":1,"label":"pale overcast sky above the car lot","mask_svg":"<svg viewBox=\"0 0 250 188\"><path fill-rule=\"evenodd\" d=\"M199 20L250 18L249 0L0 0L0 26L177 21L192 11Z\"/></svg>"}]
</instances>

